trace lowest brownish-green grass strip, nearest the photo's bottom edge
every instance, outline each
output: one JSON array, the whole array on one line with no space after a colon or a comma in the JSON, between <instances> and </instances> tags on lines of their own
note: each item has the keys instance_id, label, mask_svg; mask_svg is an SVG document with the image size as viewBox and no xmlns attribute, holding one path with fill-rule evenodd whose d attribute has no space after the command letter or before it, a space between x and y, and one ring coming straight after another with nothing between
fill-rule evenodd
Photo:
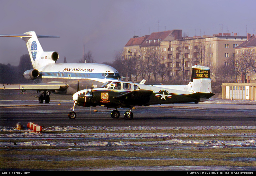
<instances>
[{"instance_id":1,"label":"lowest brownish-green grass strip, nearest the photo's bottom edge","mask_svg":"<svg viewBox=\"0 0 256 176\"><path fill-rule=\"evenodd\" d=\"M256 162L222 161L222 160L79 160L79 161L5 161L0 163L2 169L67 169L81 167L114 166L255 166Z\"/></svg>"}]
</instances>

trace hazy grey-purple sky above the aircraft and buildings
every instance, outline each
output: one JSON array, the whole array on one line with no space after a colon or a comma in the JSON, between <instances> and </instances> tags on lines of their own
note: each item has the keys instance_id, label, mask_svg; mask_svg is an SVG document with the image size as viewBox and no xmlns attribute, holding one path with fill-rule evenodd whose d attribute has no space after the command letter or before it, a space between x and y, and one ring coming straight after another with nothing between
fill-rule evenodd
<instances>
[{"instance_id":1,"label":"hazy grey-purple sky above the aircraft and buildings","mask_svg":"<svg viewBox=\"0 0 256 176\"><path fill-rule=\"evenodd\" d=\"M78 62L92 51L95 61L112 62L134 35L182 29L189 37L256 30L255 0L0 0L0 34L38 35L58 63ZM256 34L256 31L255 31ZM0 37L0 63L18 65L25 41Z\"/></svg>"}]
</instances>

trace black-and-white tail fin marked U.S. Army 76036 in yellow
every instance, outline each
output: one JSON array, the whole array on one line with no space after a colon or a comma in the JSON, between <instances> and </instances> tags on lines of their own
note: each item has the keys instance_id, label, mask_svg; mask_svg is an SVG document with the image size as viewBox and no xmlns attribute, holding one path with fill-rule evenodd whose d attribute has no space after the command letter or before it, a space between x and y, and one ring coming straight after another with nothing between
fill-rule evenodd
<instances>
[{"instance_id":1,"label":"black-and-white tail fin marked U.S. Army 76036 in yellow","mask_svg":"<svg viewBox=\"0 0 256 176\"><path fill-rule=\"evenodd\" d=\"M190 84L193 92L211 93L210 68L194 65L192 67Z\"/></svg>"}]
</instances>

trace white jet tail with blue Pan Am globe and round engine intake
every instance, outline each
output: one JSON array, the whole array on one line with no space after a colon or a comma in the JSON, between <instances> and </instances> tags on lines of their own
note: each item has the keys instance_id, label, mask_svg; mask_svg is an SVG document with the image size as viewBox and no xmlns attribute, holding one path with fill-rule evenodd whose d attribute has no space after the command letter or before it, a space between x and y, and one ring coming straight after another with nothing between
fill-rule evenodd
<instances>
[{"instance_id":1,"label":"white jet tail with blue Pan Am globe and round engine intake","mask_svg":"<svg viewBox=\"0 0 256 176\"><path fill-rule=\"evenodd\" d=\"M59 54L56 51L45 52L38 40L42 37L59 37L59 36L46 36L37 35L35 31L26 32L22 35L0 35L0 37L20 37L26 41L28 53L34 69L40 70L49 63L55 63L59 59Z\"/></svg>"}]
</instances>

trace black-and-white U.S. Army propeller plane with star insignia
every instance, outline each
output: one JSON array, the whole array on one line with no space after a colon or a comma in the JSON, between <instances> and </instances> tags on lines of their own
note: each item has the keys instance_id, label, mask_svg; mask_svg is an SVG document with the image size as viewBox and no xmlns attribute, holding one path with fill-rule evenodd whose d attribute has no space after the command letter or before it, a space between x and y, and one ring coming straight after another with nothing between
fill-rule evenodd
<instances>
[{"instance_id":1,"label":"black-and-white U.S. Army propeller plane with star insignia","mask_svg":"<svg viewBox=\"0 0 256 176\"><path fill-rule=\"evenodd\" d=\"M215 94L211 91L209 67L195 65L192 67L191 80L188 85L144 85L122 81L109 81L99 88L85 89L73 95L74 105L69 113L70 119L76 118L76 106L105 106L115 108L112 118L119 118L117 108L129 108L124 118L133 119L134 106L155 104L189 103L208 101Z\"/></svg>"}]
</instances>

